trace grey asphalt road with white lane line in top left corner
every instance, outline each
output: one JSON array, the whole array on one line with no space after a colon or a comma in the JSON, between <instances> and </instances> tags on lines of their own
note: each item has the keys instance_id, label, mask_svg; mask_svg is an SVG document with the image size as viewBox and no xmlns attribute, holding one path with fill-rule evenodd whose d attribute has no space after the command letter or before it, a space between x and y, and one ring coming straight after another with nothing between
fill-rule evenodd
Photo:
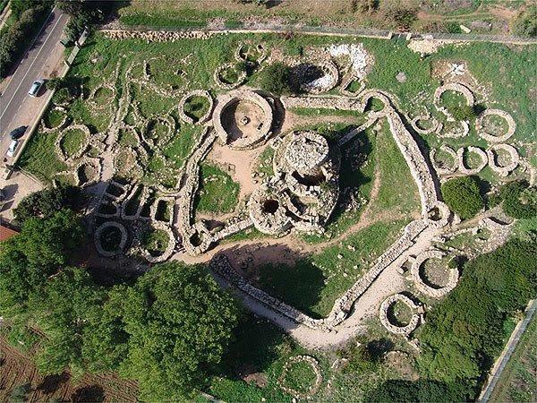
<instances>
[{"instance_id":1,"label":"grey asphalt road with white lane line in top left corner","mask_svg":"<svg viewBox=\"0 0 537 403\"><path fill-rule=\"evenodd\" d=\"M22 59L13 76L9 78L10 82L0 96L0 132L3 134L25 100L30 98L28 90L30 90L31 83L42 78L43 66L53 54L67 19L67 14L57 8L52 11L38 38L31 45L30 51Z\"/></svg>"}]
</instances>

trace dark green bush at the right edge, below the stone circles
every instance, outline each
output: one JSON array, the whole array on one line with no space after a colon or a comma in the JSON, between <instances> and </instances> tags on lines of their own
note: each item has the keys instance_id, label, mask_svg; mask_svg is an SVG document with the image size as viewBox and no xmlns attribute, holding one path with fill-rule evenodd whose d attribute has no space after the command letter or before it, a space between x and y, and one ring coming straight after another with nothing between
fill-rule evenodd
<instances>
[{"instance_id":1,"label":"dark green bush at the right edge, below the stone circles","mask_svg":"<svg viewBox=\"0 0 537 403\"><path fill-rule=\"evenodd\" d=\"M537 216L537 189L525 181L505 184L499 191L503 210L514 219L533 219Z\"/></svg>"}]
</instances>

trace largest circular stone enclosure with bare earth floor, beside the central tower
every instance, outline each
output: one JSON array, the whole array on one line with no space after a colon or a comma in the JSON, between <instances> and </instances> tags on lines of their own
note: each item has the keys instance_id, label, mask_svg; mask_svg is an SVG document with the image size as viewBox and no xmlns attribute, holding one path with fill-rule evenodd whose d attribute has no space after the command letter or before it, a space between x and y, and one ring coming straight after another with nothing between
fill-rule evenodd
<instances>
[{"instance_id":1,"label":"largest circular stone enclosure with bare earth floor, beside the central tower","mask_svg":"<svg viewBox=\"0 0 537 403\"><path fill-rule=\"evenodd\" d=\"M267 99L251 90L231 91L218 97L213 113L218 138L234 150L255 148L266 141L272 119Z\"/></svg>"}]
</instances>

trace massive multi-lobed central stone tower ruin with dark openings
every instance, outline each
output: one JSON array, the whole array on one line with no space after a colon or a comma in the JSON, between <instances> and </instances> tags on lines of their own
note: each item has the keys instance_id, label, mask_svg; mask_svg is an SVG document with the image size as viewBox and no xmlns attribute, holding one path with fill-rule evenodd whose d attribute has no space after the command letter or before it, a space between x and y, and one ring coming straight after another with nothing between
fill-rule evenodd
<instances>
[{"instance_id":1,"label":"massive multi-lobed central stone tower ruin with dark openings","mask_svg":"<svg viewBox=\"0 0 537 403\"><path fill-rule=\"evenodd\" d=\"M253 225L269 235L283 235L292 227L322 232L336 207L339 193L339 150L318 133L289 133L277 144L275 175L252 194Z\"/></svg>"}]
</instances>

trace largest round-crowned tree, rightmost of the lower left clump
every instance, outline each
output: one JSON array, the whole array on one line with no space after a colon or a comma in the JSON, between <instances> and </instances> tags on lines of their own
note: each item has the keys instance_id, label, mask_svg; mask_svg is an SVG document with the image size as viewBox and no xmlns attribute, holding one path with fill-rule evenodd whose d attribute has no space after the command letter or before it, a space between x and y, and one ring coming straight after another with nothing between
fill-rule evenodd
<instances>
[{"instance_id":1,"label":"largest round-crowned tree, rightmost of the lower left clump","mask_svg":"<svg viewBox=\"0 0 537 403\"><path fill-rule=\"evenodd\" d=\"M237 317L234 299L205 270L155 266L124 296L131 338L121 373L139 381L141 399L183 400L220 361Z\"/></svg>"}]
</instances>

